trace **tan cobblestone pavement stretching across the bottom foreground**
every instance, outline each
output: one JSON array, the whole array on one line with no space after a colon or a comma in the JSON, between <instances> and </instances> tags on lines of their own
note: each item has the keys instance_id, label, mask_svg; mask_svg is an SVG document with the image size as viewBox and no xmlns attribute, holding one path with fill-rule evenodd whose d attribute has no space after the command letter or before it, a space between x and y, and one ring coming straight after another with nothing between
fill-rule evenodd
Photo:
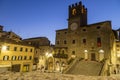
<instances>
[{"instance_id":1,"label":"tan cobblestone pavement stretching across the bottom foreground","mask_svg":"<svg viewBox=\"0 0 120 80\"><path fill-rule=\"evenodd\" d=\"M40 71L0 74L0 80L120 80L120 75L112 76L84 76L60 73L41 73Z\"/></svg>"}]
</instances>

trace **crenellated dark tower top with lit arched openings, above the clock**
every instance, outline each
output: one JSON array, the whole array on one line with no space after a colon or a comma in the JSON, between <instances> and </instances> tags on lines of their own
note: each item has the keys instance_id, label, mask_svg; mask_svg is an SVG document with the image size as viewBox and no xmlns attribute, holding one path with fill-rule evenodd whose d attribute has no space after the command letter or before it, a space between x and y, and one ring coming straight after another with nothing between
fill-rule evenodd
<instances>
[{"instance_id":1,"label":"crenellated dark tower top with lit arched openings, above the clock","mask_svg":"<svg viewBox=\"0 0 120 80\"><path fill-rule=\"evenodd\" d=\"M82 4L81 1L79 3L69 5L68 10L69 22L73 22L74 20L76 22L79 22L79 26L87 25L87 8Z\"/></svg>"}]
</instances>

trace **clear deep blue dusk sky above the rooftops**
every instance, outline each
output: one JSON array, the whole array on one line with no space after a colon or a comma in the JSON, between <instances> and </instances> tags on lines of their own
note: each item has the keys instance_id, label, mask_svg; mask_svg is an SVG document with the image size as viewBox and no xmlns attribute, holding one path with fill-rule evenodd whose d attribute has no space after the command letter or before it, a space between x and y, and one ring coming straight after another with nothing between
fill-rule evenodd
<instances>
[{"instance_id":1,"label":"clear deep blue dusk sky above the rooftops","mask_svg":"<svg viewBox=\"0 0 120 80\"><path fill-rule=\"evenodd\" d=\"M120 0L0 0L0 25L23 39L45 36L54 44L56 30L68 27L68 6L80 1L88 24L110 20L120 28Z\"/></svg>"}]
</instances>

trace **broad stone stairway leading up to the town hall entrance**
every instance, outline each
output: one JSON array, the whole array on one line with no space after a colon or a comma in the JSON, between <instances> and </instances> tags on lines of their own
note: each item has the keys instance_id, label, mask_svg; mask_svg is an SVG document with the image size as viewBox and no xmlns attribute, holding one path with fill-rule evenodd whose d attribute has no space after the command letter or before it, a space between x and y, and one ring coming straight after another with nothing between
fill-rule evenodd
<instances>
[{"instance_id":1,"label":"broad stone stairway leading up to the town hall entrance","mask_svg":"<svg viewBox=\"0 0 120 80\"><path fill-rule=\"evenodd\" d=\"M77 61L66 74L99 76L103 63L96 61Z\"/></svg>"}]
</instances>

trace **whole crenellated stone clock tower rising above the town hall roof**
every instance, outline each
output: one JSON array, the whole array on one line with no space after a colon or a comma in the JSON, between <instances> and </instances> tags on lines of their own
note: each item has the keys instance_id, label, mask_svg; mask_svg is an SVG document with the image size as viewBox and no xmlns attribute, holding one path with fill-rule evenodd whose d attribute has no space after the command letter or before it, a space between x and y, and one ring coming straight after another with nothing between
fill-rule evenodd
<instances>
[{"instance_id":1,"label":"whole crenellated stone clock tower rising above the town hall roof","mask_svg":"<svg viewBox=\"0 0 120 80\"><path fill-rule=\"evenodd\" d=\"M75 30L87 25L87 8L82 2L69 5L68 28Z\"/></svg>"}]
</instances>

